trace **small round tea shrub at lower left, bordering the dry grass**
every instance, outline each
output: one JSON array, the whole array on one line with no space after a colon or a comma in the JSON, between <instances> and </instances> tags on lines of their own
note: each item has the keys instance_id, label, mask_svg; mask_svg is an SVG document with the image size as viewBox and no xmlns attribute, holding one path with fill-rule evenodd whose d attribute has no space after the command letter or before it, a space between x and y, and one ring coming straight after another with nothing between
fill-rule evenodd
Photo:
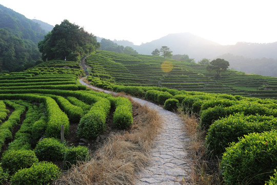
<instances>
[{"instance_id":1,"label":"small round tea shrub at lower left, bordering the dry grass","mask_svg":"<svg viewBox=\"0 0 277 185\"><path fill-rule=\"evenodd\" d=\"M85 146L72 146L69 147L65 152L65 165L70 168L73 164L76 164L77 161L85 161L90 159L89 152Z\"/></svg>"}]
</instances>

